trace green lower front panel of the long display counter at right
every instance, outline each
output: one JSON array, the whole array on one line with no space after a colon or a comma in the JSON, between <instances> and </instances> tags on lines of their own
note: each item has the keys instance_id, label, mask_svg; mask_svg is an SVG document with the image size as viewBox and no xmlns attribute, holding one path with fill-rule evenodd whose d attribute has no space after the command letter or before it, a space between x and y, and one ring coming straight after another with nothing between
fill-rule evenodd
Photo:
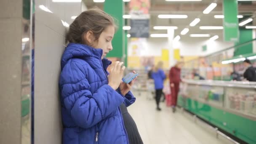
<instances>
[{"instance_id":1,"label":"green lower front panel of the long display counter at right","mask_svg":"<svg viewBox=\"0 0 256 144\"><path fill-rule=\"evenodd\" d=\"M256 121L181 96L178 105L249 144L256 144Z\"/></svg>"}]
</instances>

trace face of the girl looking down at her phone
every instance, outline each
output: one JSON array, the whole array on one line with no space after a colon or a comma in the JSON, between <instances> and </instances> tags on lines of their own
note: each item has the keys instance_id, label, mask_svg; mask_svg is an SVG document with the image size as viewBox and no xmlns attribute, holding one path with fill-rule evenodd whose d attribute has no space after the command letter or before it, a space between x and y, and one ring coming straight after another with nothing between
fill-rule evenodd
<instances>
[{"instance_id":1,"label":"face of the girl looking down at her phone","mask_svg":"<svg viewBox=\"0 0 256 144\"><path fill-rule=\"evenodd\" d=\"M99 40L96 43L94 48L101 48L103 50L101 59L103 59L109 51L112 51L112 39L115 34L115 27L110 25L108 26L99 36Z\"/></svg>"}]
</instances>

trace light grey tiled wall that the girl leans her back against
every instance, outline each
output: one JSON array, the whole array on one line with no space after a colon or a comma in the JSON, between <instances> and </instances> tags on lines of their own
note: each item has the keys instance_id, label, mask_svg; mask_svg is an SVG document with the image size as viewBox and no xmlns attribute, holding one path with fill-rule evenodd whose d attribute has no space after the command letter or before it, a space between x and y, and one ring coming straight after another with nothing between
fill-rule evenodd
<instances>
[{"instance_id":1,"label":"light grey tiled wall that the girl leans her back against","mask_svg":"<svg viewBox=\"0 0 256 144\"><path fill-rule=\"evenodd\" d=\"M35 4L35 144L61 144L58 81L67 31L63 22L72 23L71 16L80 14L81 3L36 0Z\"/></svg>"}]
</instances>

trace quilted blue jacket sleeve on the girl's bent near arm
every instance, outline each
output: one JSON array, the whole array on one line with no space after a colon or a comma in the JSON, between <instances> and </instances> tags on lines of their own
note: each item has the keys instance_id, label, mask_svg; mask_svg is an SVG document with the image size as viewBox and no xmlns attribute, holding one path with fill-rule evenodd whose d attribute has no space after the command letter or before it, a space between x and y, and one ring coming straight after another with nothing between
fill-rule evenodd
<instances>
[{"instance_id":1,"label":"quilted blue jacket sleeve on the girl's bent near arm","mask_svg":"<svg viewBox=\"0 0 256 144\"><path fill-rule=\"evenodd\" d=\"M91 93L86 75L79 63L71 62L61 71L59 82L62 107L82 128L90 128L104 120L124 101L123 96L109 85L103 85L96 93Z\"/></svg>"}]
</instances>

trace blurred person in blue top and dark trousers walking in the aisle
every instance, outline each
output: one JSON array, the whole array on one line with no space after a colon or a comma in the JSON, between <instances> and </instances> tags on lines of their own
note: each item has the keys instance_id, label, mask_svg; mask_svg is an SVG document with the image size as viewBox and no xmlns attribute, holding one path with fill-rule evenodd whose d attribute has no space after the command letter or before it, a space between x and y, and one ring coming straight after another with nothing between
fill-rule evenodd
<instances>
[{"instance_id":1,"label":"blurred person in blue top and dark trousers walking in the aisle","mask_svg":"<svg viewBox=\"0 0 256 144\"><path fill-rule=\"evenodd\" d=\"M165 72L163 71L163 61L159 61L157 63L151 77L155 83L155 100L157 104L157 111L160 111L161 108L159 107L159 103L163 94L163 82L166 78Z\"/></svg>"}]
</instances>

